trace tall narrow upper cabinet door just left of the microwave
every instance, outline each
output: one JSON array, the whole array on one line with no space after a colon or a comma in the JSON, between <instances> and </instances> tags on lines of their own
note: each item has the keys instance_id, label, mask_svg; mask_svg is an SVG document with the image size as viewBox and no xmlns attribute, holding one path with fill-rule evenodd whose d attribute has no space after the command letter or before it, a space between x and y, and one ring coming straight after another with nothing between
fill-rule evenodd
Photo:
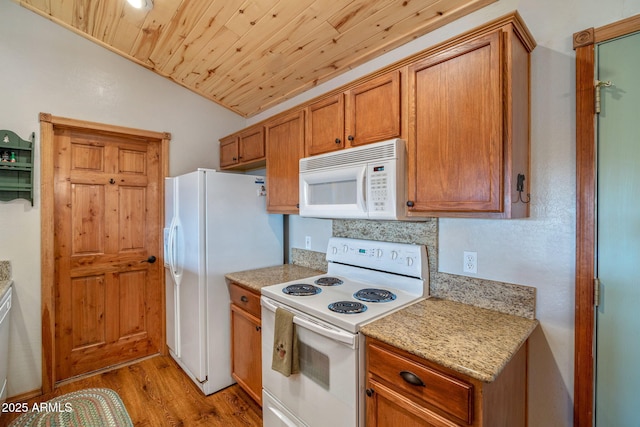
<instances>
[{"instance_id":1,"label":"tall narrow upper cabinet door just left of the microwave","mask_svg":"<svg viewBox=\"0 0 640 427\"><path fill-rule=\"evenodd\" d=\"M304 156L304 110L266 126L267 211L298 213L299 160Z\"/></svg>"}]
</instances>

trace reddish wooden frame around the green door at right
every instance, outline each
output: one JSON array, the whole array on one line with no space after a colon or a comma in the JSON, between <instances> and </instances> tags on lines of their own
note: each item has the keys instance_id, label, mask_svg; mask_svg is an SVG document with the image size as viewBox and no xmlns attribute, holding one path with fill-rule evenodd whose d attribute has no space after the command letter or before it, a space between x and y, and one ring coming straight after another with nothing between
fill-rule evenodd
<instances>
[{"instance_id":1,"label":"reddish wooden frame around the green door at right","mask_svg":"<svg viewBox=\"0 0 640 427\"><path fill-rule=\"evenodd\" d=\"M576 283L574 426L591 427L594 416L596 120L595 45L640 31L640 15L573 35L576 51Z\"/></svg>"}]
</instances>

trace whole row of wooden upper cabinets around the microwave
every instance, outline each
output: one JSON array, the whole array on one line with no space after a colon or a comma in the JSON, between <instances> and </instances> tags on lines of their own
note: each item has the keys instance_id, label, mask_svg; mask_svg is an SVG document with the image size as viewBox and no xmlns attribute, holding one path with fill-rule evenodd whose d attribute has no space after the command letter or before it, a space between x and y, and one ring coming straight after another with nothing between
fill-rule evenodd
<instances>
[{"instance_id":1,"label":"whole row of wooden upper cabinets around the microwave","mask_svg":"<svg viewBox=\"0 0 640 427\"><path fill-rule=\"evenodd\" d=\"M298 213L301 157L402 138L408 216L529 216L534 47L514 12L267 120L270 212ZM221 166L256 164L260 129L221 140Z\"/></svg>"}]
</instances>

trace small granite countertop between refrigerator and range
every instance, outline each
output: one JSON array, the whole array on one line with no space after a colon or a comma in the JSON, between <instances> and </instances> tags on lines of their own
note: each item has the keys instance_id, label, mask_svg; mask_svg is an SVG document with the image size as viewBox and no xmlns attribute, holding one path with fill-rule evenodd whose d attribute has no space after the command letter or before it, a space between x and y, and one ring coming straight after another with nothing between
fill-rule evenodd
<instances>
[{"instance_id":1,"label":"small granite countertop between refrigerator and range","mask_svg":"<svg viewBox=\"0 0 640 427\"><path fill-rule=\"evenodd\" d=\"M226 274L227 280L260 293L264 286L304 279L305 277L323 274L322 271L295 264L276 265L274 267L239 271Z\"/></svg>"}]
</instances>

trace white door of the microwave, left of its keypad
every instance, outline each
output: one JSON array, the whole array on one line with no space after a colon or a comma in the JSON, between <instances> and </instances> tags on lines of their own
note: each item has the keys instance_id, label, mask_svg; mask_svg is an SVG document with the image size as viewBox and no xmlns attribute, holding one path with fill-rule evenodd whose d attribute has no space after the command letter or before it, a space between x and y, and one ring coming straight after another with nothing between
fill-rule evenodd
<instances>
[{"instance_id":1,"label":"white door of the microwave, left of its keypad","mask_svg":"<svg viewBox=\"0 0 640 427\"><path fill-rule=\"evenodd\" d=\"M367 165L300 173L300 216L367 218Z\"/></svg>"}]
</instances>

